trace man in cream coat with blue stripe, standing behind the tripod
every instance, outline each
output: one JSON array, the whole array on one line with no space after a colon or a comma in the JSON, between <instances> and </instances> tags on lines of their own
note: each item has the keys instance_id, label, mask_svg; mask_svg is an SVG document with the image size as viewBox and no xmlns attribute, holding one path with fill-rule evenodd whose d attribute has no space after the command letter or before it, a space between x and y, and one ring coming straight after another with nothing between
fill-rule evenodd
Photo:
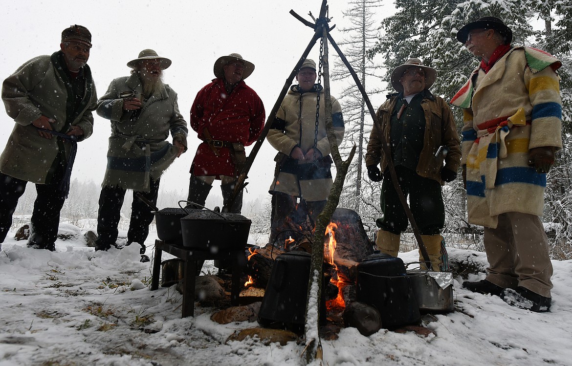
<instances>
[{"instance_id":1,"label":"man in cream coat with blue stripe, standing behind the tripod","mask_svg":"<svg viewBox=\"0 0 572 366\"><path fill-rule=\"evenodd\" d=\"M272 194L272 220L269 243L283 245L300 232L311 235L316 218L327 203L332 188L332 157L325 128L324 88L316 84L316 62L305 59L268 131L267 140L278 150L276 170L269 192ZM320 98L316 126L316 104ZM341 106L332 97L332 125L337 145L344 137ZM306 222L309 221L309 225ZM309 226L309 227L307 227ZM285 229L281 236L280 232Z\"/></svg>"}]
</instances>

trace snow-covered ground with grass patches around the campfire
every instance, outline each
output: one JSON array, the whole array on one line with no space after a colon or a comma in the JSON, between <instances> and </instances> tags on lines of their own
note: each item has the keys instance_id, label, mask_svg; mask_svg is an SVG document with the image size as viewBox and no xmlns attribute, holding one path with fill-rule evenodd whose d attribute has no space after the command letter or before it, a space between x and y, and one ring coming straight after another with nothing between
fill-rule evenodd
<instances>
[{"instance_id":1,"label":"snow-covered ground with grass patches around the campfire","mask_svg":"<svg viewBox=\"0 0 572 366\"><path fill-rule=\"evenodd\" d=\"M151 265L137 246L95 253L79 229L56 251L26 248L9 233L0 252L0 366L5 365L300 365L303 345L228 341L247 321L220 325L217 309L197 306L181 319L181 295L150 291ZM151 248L155 233L150 233ZM451 257L486 263L483 253ZM400 253L415 261L416 252ZM168 258L165 256L164 258ZM212 268L212 264L208 264ZM572 261L553 261L551 312L513 308L454 282L455 312L426 326L435 335L355 328L322 340L324 365L572 365ZM481 279L484 273L471 275Z\"/></svg>"}]
</instances>

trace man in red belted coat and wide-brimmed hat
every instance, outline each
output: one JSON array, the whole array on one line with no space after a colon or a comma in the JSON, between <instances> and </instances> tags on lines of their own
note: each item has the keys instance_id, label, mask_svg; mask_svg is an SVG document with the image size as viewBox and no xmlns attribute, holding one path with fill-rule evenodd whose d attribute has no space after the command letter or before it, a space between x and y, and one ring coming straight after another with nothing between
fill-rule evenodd
<instances>
[{"instance_id":1,"label":"man in red belted coat and wide-brimmed hat","mask_svg":"<svg viewBox=\"0 0 572 366\"><path fill-rule=\"evenodd\" d=\"M202 143L190 167L188 201L204 206L213 181L219 179L223 205L228 207L246 162L244 146L255 142L264 127L264 105L244 83L254 67L237 53L219 57L213 66L216 78L194 98L190 126ZM240 213L242 206L241 190L229 212Z\"/></svg>"}]
</instances>

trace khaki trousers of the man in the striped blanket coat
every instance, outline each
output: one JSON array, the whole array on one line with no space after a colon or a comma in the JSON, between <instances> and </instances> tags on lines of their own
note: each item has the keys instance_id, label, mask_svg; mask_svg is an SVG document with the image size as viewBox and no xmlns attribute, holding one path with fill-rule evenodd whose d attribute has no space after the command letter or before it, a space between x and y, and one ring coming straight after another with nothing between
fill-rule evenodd
<instances>
[{"instance_id":1,"label":"khaki trousers of the man in the striped blanket coat","mask_svg":"<svg viewBox=\"0 0 572 366\"><path fill-rule=\"evenodd\" d=\"M522 286L551 297L553 273L548 238L538 216L507 212L496 229L484 228L489 268L486 279L503 288Z\"/></svg>"}]
</instances>

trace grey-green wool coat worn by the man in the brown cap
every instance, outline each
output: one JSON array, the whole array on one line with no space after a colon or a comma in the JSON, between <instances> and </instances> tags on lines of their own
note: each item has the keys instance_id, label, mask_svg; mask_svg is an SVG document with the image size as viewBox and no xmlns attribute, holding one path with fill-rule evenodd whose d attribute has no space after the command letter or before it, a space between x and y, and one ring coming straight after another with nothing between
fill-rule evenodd
<instances>
[{"instance_id":1,"label":"grey-green wool coat worn by the man in the brown cap","mask_svg":"<svg viewBox=\"0 0 572 366\"><path fill-rule=\"evenodd\" d=\"M2 101L8 116L14 119L14 129L0 156L0 172L39 184L46 183L47 172L58 154L58 138L39 136L31 124L41 116L53 118L52 128L61 133L70 126L80 126L85 140L93 132L92 112L96 109L96 87L88 65L82 67L85 78L84 94L78 110L73 110L73 95L61 63L62 52L42 55L24 63L2 83ZM66 158L71 144L63 143Z\"/></svg>"}]
</instances>

